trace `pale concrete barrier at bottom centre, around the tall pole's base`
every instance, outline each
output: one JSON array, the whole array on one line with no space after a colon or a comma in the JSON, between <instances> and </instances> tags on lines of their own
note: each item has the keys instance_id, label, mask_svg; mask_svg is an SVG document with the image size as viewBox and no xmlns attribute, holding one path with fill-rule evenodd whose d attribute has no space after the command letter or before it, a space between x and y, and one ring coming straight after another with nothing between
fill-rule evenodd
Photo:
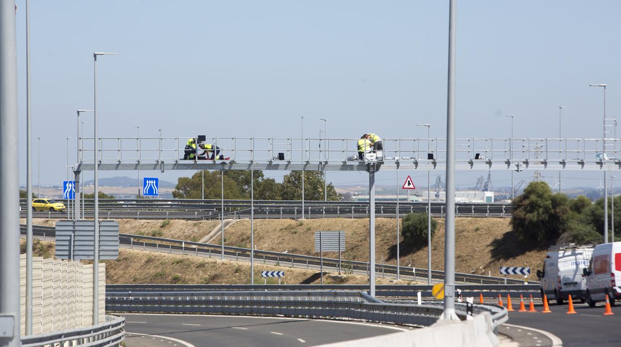
<instances>
[{"instance_id":1,"label":"pale concrete barrier at bottom centre, around the tall pole's base","mask_svg":"<svg viewBox=\"0 0 621 347\"><path fill-rule=\"evenodd\" d=\"M438 321L431 327L410 332L392 333L360 340L343 341L324 347L397 347L397 346L451 346L497 347L499 340L492 332L489 312L476 315L472 320L458 322Z\"/></svg>"}]
</instances>

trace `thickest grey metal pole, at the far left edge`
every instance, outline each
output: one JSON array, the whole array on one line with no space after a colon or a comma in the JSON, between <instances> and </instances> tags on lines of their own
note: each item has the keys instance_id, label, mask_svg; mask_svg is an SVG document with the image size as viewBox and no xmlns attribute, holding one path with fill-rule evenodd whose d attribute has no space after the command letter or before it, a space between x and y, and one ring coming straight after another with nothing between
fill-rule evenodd
<instances>
[{"instance_id":1,"label":"thickest grey metal pole, at the far left edge","mask_svg":"<svg viewBox=\"0 0 621 347\"><path fill-rule=\"evenodd\" d=\"M15 1L0 1L0 313L10 315L5 320L12 320L12 331L0 338L0 345L9 347L21 346L15 12Z\"/></svg>"}]
</instances>

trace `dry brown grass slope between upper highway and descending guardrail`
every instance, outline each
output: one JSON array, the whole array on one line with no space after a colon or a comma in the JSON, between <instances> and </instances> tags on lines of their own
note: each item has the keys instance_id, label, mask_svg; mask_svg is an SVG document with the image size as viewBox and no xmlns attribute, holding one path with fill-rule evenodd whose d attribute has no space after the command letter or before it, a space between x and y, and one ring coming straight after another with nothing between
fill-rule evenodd
<instances>
[{"instance_id":1,"label":"dry brown grass slope between upper highway and descending guardrail","mask_svg":"<svg viewBox=\"0 0 621 347\"><path fill-rule=\"evenodd\" d=\"M444 267L444 223L438 220L438 230L432 240L432 268ZM53 220L36 219L35 224L53 225ZM199 240L219 224L218 221L136 221L120 219L121 232L157 235L171 239ZM314 253L315 231L346 232L347 250L342 257L368 261L368 219L256 219L256 248L276 252L318 255ZM510 231L508 218L456 218L455 266L461 273L499 276L500 266L542 268L548 245L527 248ZM220 238L216 238L219 242ZM250 220L242 219L225 229L225 245L250 247ZM401 242L401 265L427 268L427 245L406 245ZM324 253L336 258L335 253ZM376 256L378 262L396 263L396 220L376 218ZM515 276L517 278L519 276ZM530 280L536 280L531 275Z\"/></svg>"}]
</instances>

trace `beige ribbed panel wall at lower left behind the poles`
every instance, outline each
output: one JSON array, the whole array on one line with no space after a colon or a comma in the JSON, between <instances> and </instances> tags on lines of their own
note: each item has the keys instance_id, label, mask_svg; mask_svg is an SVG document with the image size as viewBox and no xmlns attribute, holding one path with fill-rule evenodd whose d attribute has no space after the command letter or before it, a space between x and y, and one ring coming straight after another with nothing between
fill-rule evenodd
<instances>
[{"instance_id":1,"label":"beige ribbed panel wall at lower left behind the poles","mask_svg":"<svg viewBox=\"0 0 621 347\"><path fill-rule=\"evenodd\" d=\"M21 332L25 334L26 255L20 255ZM93 325L93 265L32 258L32 333ZM106 315L106 264L99 263L99 322Z\"/></svg>"}]
</instances>

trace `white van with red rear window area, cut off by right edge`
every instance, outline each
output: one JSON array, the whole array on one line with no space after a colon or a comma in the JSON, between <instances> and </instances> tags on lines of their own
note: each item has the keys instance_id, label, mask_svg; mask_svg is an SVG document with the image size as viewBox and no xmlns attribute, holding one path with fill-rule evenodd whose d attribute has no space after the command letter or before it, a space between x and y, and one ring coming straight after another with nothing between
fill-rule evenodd
<instances>
[{"instance_id":1,"label":"white van with red rear window area, cut off by right edge","mask_svg":"<svg viewBox=\"0 0 621 347\"><path fill-rule=\"evenodd\" d=\"M587 301L595 306L597 301L604 301L608 294L610 305L615 299L621 299L621 242L601 244L595 247L591 266L584 271L587 278Z\"/></svg>"}]
</instances>

